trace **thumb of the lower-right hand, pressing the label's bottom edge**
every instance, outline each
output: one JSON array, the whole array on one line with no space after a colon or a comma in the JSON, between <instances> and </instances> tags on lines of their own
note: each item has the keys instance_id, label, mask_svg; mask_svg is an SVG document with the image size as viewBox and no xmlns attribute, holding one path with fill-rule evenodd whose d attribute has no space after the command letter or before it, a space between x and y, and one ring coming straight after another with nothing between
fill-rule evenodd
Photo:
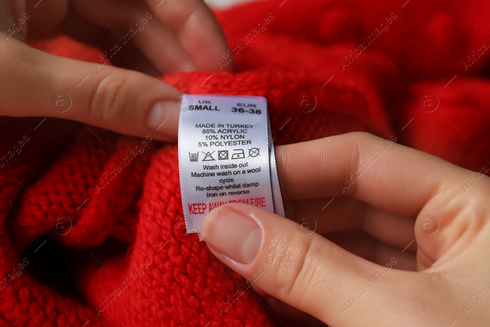
<instances>
[{"instance_id":1,"label":"thumb of the lower-right hand, pressing the label's bottom edge","mask_svg":"<svg viewBox=\"0 0 490 327\"><path fill-rule=\"evenodd\" d=\"M406 308L396 280L406 275L407 284L415 273L369 262L317 233L305 235L293 221L247 204L213 209L203 222L201 236L211 252L245 277L234 300L255 285L326 324L335 320L335 326L371 326L367 317L376 326L401 323L381 300L391 308L392 302ZM393 287L398 290L392 300ZM223 303L222 314L230 302Z\"/></svg>"}]
</instances>

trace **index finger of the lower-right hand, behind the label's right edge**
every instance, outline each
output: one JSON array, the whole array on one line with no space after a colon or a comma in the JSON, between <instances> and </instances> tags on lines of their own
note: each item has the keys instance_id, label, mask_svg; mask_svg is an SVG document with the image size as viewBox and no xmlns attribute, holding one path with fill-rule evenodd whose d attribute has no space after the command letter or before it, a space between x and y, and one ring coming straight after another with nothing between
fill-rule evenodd
<instances>
[{"instance_id":1,"label":"index finger of the lower-right hand, behind the label's right edge","mask_svg":"<svg viewBox=\"0 0 490 327\"><path fill-rule=\"evenodd\" d=\"M279 146L276 157L285 199L352 196L406 216L417 215L442 185L452 184L457 192L472 173L363 132ZM442 209L451 192L438 194Z\"/></svg>"}]
</instances>

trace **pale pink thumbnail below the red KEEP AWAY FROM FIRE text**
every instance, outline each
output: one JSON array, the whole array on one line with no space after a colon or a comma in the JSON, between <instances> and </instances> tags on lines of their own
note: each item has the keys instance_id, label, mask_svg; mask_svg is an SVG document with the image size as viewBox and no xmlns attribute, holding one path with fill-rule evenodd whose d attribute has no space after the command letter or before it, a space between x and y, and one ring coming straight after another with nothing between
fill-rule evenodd
<instances>
[{"instance_id":1,"label":"pale pink thumbnail below the red KEEP AWAY FROM FIRE text","mask_svg":"<svg viewBox=\"0 0 490 327\"><path fill-rule=\"evenodd\" d=\"M257 223L238 212L220 208L211 211L206 220L208 227L201 229L206 243L236 261L253 261L262 242L262 230Z\"/></svg>"}]
</instances>

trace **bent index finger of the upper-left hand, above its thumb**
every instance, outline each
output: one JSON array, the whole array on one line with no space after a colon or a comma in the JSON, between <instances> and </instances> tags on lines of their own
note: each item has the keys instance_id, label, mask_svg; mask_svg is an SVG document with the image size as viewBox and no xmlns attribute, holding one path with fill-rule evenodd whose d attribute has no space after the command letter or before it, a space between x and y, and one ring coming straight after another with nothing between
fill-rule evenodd
<instances>
[{"instance_id":1,"label":"bent index finger of the upper-left hand, above its thumb","mask_svg":"<svg viewBox=\"0 0 490 327\"><path fill-rule=\"evenodd\" d=\"M201 0L146 0L158 18L172 29L198 69L232 71L234 65L220 65L228 55L221 26Z\"/></svg>"}]
</instances>

